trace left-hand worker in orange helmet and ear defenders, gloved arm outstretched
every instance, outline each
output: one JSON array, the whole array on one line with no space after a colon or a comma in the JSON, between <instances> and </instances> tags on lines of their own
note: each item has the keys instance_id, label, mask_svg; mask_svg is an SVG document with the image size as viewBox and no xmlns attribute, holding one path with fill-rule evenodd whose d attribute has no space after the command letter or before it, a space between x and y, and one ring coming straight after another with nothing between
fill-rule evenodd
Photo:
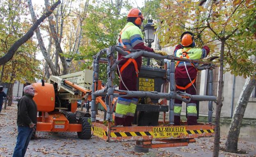
<instances>
[{"instance_id":1,"label":"left-hand worker in orange helmet and ear defenders, gloved arm outstretched","mask_svg":"<svg viewBox=\"0 0 256 157\"><path fill-rule=\"evenodd\" d=\"M154 51L144 45L143 35L140 27L144 17L137 8L130 9L127 15L127 24L119 33L117 45L127 49L140 49L167 55L164 51ZM129 51L127 51L130 53ZM118 60L122 60L117 68L120 77L119 89L126 91L137 91L137 77L142 65L142 56L135 59L124 58L118 54ZM117 99L115 125L131 126L136 110L138 99L135 97L119 97Z\"/></svg>"}]
</instances>

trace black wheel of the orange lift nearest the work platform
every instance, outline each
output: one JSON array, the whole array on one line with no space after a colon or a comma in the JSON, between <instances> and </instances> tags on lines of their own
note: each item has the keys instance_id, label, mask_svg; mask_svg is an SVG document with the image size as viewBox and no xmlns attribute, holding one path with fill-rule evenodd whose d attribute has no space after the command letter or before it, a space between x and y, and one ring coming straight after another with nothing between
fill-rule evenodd
<instances>
[{"instance_id":1,"label":"black wheel of the orange lift nearest the work platform","mask_svg":"<svg viewBox=\"0 0 256 157\"><path fill-rule=\"evenodd\" d=\"M82 124L82 131L77 132L78 138L80 139L90 139L91 138L91 124L88 122L89 117L81 117L78 124Z\"/></svg>"}]
</instances>

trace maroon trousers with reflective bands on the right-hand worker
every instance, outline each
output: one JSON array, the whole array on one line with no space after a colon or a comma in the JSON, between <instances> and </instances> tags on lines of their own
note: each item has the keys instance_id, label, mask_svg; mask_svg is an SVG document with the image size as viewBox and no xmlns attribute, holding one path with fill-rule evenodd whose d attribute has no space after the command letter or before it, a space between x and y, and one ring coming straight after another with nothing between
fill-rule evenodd
<instances>
[{"instance_id":1,"label":"maroon trousers with reflective bands on the right-hand worker","mask_svg":"<svg viewBox=\"0 0 256 157\"><path fill-rule=\"evenodd\" d=\"M194 80L194 78L191 78ZM176 85L185 87L187 84L190 83L189 78L177 78ZM194 82L194 86L196 87L196 82ZM196 95L197 91L195 90L194 86L190 86L187 89L181 89L176 87L175 91L186 92L191 95ZM191 100L187 103L187 124L188 125L197 125L197 101ZM180 125L181 122L181 107L182 101L181 100L174 100L174 125Z\"/></svg>"}]
</instances>

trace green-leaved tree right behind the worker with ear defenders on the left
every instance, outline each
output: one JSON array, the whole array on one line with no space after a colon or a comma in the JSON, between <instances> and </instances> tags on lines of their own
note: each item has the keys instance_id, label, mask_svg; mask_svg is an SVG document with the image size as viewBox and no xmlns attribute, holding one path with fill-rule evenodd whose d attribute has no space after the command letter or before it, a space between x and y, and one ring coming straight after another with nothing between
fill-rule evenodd
<instances>
[{"instance_id":1,"label":"green-leaved tree right behind the worker with ear defenders on the left","mask_svg":"<svg viewBox=\"0 0 256 157\"><path fill-rule=\"evenodd\" d=\"M108 0L95 1L98 5L89 5L88 15L84 19L83 35L87 37L86 45L80 49L80 55L75 55L75 60L84 59L84 67L90 68L92 56L96 55L101 49L110 45L116 45L117 37L121 29L126 24L126 13L121 13L121 8L131 9L128 1ZM106 64L100 64L99 79L106 81ZM118 81L115 80L115 83Z\"/></svg>"}]
</instances>

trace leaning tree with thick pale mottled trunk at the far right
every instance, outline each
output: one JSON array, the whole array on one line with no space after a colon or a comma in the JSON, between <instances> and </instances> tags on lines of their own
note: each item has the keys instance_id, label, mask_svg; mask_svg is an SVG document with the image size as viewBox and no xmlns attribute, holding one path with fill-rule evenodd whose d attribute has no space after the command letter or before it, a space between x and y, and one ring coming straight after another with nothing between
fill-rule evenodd
<instances>
[{"instance_id":1,"label":"leaning tree with thick pale mottled trunk at the far right","mask_svg":"<svg viewBox=\"0 0 256 157\"><path fill-rule=\"evenodd\" d=\"M249 2L250 1L247 1L247 3L245 3L245 5L247 6L247 9L245 10L247 16L245 16L243 19L244 21L240 23L240 32L243 31L247 33L246 35L248 35L249 38L251 36L250 39L253 39L252 37L256 39L256 7L255 7L256 2L252 1L251 4L249 4ZM235 5L237 5L241 3L241 1L237 0L234 3ZM253 47L256 46L255 40L252 40L252 42L248 44L251 45L251 49L253 49ZM255 53L252 52L252 54L254 54L254 57L255 57ZM246 60L246 58L244 59ZM240 133L240 127L242 124L242 118L244 117L245 109L247 107L247 103L251 95L251 92L256 84L255 78L256 78L256 75L253 75L246 79L245 85L242 89L242 92L240 93L238 102L235 106L235 113L232 117L228 137L225 144L226 151L228 152L237 152L238 150L238 137Z\"/></svg>"}]
</instances>

